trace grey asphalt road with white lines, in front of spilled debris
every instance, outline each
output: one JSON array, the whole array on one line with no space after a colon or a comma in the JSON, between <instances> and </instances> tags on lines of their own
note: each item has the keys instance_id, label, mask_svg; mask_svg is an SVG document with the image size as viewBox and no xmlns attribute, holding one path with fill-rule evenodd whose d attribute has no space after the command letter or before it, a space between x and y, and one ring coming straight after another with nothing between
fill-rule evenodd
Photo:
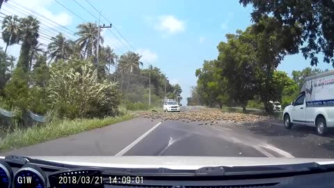
<instances>
[{"instance_id":1,"label":"grey asphalt road with white lines, in front of spilled debris","mask_svg":"<svg viewBox=\"0 0 334 188\"><path fill-rule=\"evenodd\" d=\"M198 107L182 107L191 110ZM145 155L223 157L334 157L334 134L308 127L285 130L277 120L204 125L134 118L0 155Z\"/></svg>"}]
</instances>

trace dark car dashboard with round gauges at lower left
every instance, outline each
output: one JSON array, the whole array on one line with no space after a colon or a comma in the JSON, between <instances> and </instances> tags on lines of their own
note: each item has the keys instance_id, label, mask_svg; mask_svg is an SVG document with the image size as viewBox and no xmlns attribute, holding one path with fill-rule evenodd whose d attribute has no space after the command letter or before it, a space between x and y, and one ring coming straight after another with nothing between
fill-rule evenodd
<instances>
[{"instance_id":1,"label":"dark car dashboard with round gauges at lower left","mask_svg":"<svg viewBox=\"0 0 334 188\"><path fill-rule=\"evenodd\" d=\"M198 175L170 169L110 169L74 166L10 156L0 159L1 188L242 188L242 187L334 187L332 171L299 175ZM172 173L173 171L173 173ZM205 175L201 175L205 174Z\"/></svg>"}]
</instances>

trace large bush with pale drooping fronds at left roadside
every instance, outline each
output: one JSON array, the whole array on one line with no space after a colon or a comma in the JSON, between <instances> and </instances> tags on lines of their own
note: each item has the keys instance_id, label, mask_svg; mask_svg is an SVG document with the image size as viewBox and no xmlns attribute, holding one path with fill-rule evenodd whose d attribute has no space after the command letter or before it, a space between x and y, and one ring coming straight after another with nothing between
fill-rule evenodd
<instances>
[{"instance_id":1,"label":"large bush with pale drooping fronds at left roadside","mask_svg":"<svg viewBox=\"0 0 334 188\"><path fill-rule=\"evenodd\" d=\"M113 116L120 104L116 83L97 79L93 65L51 68L47 85L51 109L67 118Z\"/></svg>"}]
</instances>

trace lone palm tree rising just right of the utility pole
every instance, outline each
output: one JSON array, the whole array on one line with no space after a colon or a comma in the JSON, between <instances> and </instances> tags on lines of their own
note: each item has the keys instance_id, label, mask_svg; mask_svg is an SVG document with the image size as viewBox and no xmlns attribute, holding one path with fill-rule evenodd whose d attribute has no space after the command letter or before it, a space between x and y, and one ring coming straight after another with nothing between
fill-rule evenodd
<instances>
[{"instance_id":1,"label":"lone palm tree rising just right of the utility pole","mask_svg":"<svg viewBox=\"0 0 334 188\"><path fill-rule=\"evenodd\" d=\"M141 56L134 52L127 52L127 54L123 54L122 56L120 56L120 61L118 61L119 63L118 66L121 70L121 73L129 72L129 80L127 82L127 91L129 91L131 74L133 72L138 72L139 66L143 65L143 62L139 61L140 59L141 59Z\"/></svg>"}]
</instances>

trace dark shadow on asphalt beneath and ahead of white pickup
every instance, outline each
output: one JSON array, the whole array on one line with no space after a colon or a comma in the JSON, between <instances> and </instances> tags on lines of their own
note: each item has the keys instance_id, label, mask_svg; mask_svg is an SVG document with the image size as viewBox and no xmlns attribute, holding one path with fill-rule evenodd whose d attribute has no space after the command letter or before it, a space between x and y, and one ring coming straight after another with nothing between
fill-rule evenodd
<instances>
[{"instance_id":1,"label":"dark shadow on asphalt beneath and ahead of white pickup","mask_svg":"<svg viewBox=\"0 0 334 188\"><path fill-rule=\"evenodd\" d=\"M267 121L260 121L257 123L244 123L244 125L246 129L249 130L250 132L253 132L255 134L262 134L264 136L305 137L308 134L319 136L317 135L315 127L294 125L290 130L287 130L283 124L282 126L280 126L280 125L268 123ZM331 129L328 130L328 134L326 134L326 136L319 136L319 138L321 137L327 137L330 139L334 139L334 130L331 130Z\"/></svg>"}]
</instances>

